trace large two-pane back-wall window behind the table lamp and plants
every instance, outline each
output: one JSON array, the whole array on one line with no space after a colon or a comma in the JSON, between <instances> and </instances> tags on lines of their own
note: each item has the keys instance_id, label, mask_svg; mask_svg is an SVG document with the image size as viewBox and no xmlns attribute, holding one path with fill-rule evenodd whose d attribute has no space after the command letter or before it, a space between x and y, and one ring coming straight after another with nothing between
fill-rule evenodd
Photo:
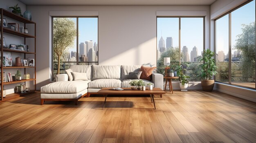
<instances>
[{"instance_id":1,"label":"large two-pane back-wall window behind the table lamp and plants","mask_svg":"<svg viewBox=\"0 0 256 143\"><path fill-rule=\"evenodd\" d=\"M193 27L193 28L191 28ZM171 58L171 67L190 62L186 75L199 81L197 57L204 49L204 17L157 18L157 70L164 73L164 57Z\"/></svg>"}]
</instances>

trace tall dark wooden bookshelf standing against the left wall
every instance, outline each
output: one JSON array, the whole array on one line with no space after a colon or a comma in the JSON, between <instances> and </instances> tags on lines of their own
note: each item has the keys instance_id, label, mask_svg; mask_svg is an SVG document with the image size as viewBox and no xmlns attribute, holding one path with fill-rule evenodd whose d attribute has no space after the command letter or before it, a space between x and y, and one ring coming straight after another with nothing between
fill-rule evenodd
<instances>
[{"instance_id":1,"label":"tall dark wooden bookshelf standing against the left wall","mask_svg":"<svg viewBox=\"0 0 256 143\"><path fill-rule=\"evenodd\" d=\"M4 34L10 34L10 35L13 35L13 36L18 36L18 37L23 37L24 38L24 42L22 44L26 44L26 38L34 38L34 45L29 45L29 49L34 49L34 52L27 52L27 51L20 51L20 50L13 50L13 49L9 49L9 48L4 48L3 47L3 38L1 38L1 44L0 44L0 51L1 51L1 62L3 61L3 52L11 52L11 53L22 53L24 55L23 58L26 59L26 54L32 54L34 55L34 64L36 65L36 22L33 22L33 21L30 21L30 20L27 20L25 18L22 18L20 17L19 15L16 15L16 14L13 14L5 9L0 9L0 15L1 15L1 22L0 22L0 36L1 37L4 37ZM3 27L3 20L2 18L10 18L10 19L13 19L17 22L21 22L24 24L24 28L26 28L26 24L34 24L34 35L30 35L30 34L26 34L26 33L21 33L21 32L18 32L18 31L14 31L12 29L9 29L7 27ZM34 48L31 48L31 47L34 47ZM32 50L33 51L33 50ZM13 57L14 59L15 57ZM0 78L0 85L1 85L1 89L3 89L3 86L4 85L9 85L9 84L13 84L13 88L15 88L16 85L14 84L17 84L17 83L22 83L22 82L27 82L27 81L34 81L34 89L36 90L36 66L3 66L3 62L0 63L0 66L1 66L1 78ZM21 68L24 70L24 74L26 74L26 68L34 68L34 78L32 79L22 79L22 80L18 80L18 81L11 81L11 82L3 82L3 73L4 73L4 70L5 69L12 69L12 68ZM10 100L10 99L14 99L14 98L17 98L17 97L20 97L20 96L23 96L23 95L28 95L28 94L31 94L31 93L34 93L34 91L30 91L30 92L27 92L27 93L12 93L12 94L9 94L9 95L6 95L5 98L3 98L3 96L1 96L0 98L0 102L1 101L7 101L7 100ZM3 95L3 90L1 90L1 95Z\"/></svg>"}]
</instances>

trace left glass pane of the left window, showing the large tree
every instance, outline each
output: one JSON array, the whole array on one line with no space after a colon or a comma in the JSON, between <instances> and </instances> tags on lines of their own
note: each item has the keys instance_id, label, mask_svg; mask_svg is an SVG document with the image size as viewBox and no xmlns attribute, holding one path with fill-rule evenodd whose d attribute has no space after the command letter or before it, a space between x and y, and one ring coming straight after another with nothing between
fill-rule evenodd
<instances>
[{"instance_id":1,"label":"left glass pane of the left window, showing the large tree","mask_svg":"<svg viewBox=\"0 0 256 143\"><path fill-rule=\"evenodd\" d=\"M76 64L76 18L53 18L53 77Z\"/></svg>"}]
</instances>

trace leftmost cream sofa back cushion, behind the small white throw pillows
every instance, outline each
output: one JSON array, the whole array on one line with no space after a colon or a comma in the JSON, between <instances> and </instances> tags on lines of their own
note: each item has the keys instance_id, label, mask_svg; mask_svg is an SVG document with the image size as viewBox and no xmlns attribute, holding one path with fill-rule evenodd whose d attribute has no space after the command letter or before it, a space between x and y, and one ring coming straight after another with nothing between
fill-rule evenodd
<instances>
[{"instance_id":1,"label":"leftmost cream sofa back cushion, behind the small white throw pillows","mask_svg":"<svg viewBox=\"0 0 256 143\"><path fill-rule=\"evenodd\" d=\"M77 73L86 73L88 80L92 80L92 65L70 65L70 69Z\"/></svg>"}]
</instances>

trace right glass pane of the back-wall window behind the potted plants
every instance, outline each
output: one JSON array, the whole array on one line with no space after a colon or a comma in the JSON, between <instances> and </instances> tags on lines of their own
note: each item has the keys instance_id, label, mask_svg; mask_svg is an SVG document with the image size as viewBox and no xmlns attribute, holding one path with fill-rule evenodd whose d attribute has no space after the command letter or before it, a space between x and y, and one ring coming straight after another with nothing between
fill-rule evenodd
<instances>
[{"instance_id":1,"label":"right glass pane of the back-wall window behind the potted plants","mask_svg":"<svg viewBox=\"0 0 256 143\"><path fill-rule=\"evenodd\" d=\"M192 28L193 27L193 28ZM186 75L190 81L201 81L197 75L200 73L197 57L204 49L204 18L181 18L181 59L190 62Z\"/></svg>"}]
</instances>

